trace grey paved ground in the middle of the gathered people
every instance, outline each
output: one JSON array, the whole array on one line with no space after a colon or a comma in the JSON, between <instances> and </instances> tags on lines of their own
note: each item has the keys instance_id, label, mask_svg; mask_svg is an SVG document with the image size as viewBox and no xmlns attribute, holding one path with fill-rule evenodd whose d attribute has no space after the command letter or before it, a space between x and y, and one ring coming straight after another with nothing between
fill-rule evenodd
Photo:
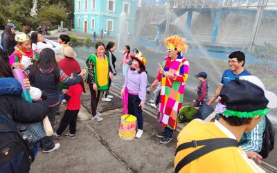
<instances>
[{"instance_id":1,"label":"grey paved ground in the middle of the gathered people","mask_svg":"<svg viewBox=\"0 0 277 173\"><path fill-rule=\"evenodd\" d=\"M98 111L104 120L95 122L91 117L89 89L82 95L82 109L78 117L76 138L62 137L55 140L61 147L55 152L41 151L30 172L174 172L173 161L177 143L177 133L171 143L162 145L157 138L158 125L156 111L146 107L143 117L143 136L140 139L123 140L118 136L122 107L120 105L118 76L111 87L113 102L102 102ZM89 111L87 111L89 108ZM62 105L61 115L66 109ZM57 116L56 127L62 116ZM179 129L184 125L180 125ZM67 133L68 129L64 131ZM269 171L268 171L269 172Z\"/></svg>"}]
</instances>

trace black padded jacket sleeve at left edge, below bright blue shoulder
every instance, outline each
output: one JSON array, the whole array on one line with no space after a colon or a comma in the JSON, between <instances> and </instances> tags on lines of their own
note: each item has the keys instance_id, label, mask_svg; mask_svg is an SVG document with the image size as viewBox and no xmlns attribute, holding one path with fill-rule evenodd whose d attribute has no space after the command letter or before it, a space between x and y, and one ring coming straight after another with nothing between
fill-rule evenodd
<instances>
[{"instance_id":1,"label":"black padded jacket sleeve at left edge, below bright blue shoulder","mask_svg":"<svg viewBox=\"0 0 277 173\"><path fill-rule=\"evenodd\" d=\"M16 122L42 122L46 117L47 110L48 104L43 100L30 103L13 95L0 96L0 113L10 114Z\"/></svg>"}]
</instances>

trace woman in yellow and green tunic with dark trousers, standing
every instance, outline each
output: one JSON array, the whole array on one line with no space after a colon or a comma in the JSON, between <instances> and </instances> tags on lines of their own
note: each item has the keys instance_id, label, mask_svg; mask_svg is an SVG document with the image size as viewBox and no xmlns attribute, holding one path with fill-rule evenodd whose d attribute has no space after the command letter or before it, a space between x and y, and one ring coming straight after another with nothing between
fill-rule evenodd
<instances>
[{"instance_id":1,"label":"woman in yellow and green tunic with dark trousers, standing","mask_svg":"<svg viewBox=\"0 0 277 173\"><path fill-rule=\"evenodd\" d=\"M87 58L87 76L85 82L89 84L91 91L91 120L102 121L96 111L100 93L107 92L109 86L109 78L112 80L113 75L109 71L109 57L105 54L105 44L98 42L96 44L96 54L92 54Z\"/></svg>"}]
</instances>

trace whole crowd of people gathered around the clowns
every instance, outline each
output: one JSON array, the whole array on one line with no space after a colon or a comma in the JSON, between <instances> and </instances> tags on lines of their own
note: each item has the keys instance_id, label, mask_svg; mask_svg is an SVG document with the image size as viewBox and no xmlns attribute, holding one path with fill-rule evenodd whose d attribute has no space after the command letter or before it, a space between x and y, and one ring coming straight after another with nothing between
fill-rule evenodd
<instances>
[{"instance_id":1,"label":"whole crowd of people gathered around the clowns","mask_svg":"<svg viewBox=\"0 0 277 173\"><path fill-rule=\"evenodd\" d=\"M40 26L39 26L40 27ZM97 111L98 102L110 102L111 82L116 73L116 44L95 44L95 53L87 57L87 69L81 69L74 59L77 54L69 46L70 37L60 35L57 42L44 39L40 28L15 35L16 26L9 23L2 35L3 50L0 51L0 111L10 113L17 122L42 122L47 116L53 129L55 116L60 113L60 104L65 99L66 111L59 127L52 136L46 136L35 144L44 153L59 149L53 139L62 138L69 126L66 138L75 138L80 97L84 82L91 93L91 120L103 120ZM31 33L31 34L30 34ZM107 34L109 37L109 34ZM93 38L93 39L96 39ZM170 143L177 129L177 115L184 102L186 81L190 65L182 53L188 51L185 40L177 35L163 42L167 56L157 66L157 77L150 85L156 88L151 98L159 109L157 119L164 130L157 133L162 144ZM137 118L136 138L143 136L143 109L148 89L146 58L134 48L125 46L120 67L125 78L121 95L125 100L124 111ZM245 55L235 51L229 55L229 67L224 71L220 86L208 98L208 74L195 75L199 85L195 87L197 98L194 107L211 105L217 98L217 118L214 122L192 120L178 135L175 156L175 172L263 172L256 165L265 130L265 116L269 109L277 107L277 97L265 89L262 81L244 69ZM32 103L21 98L21 85L13 78L12 70L24 72L23 82L27 89L41 91L41 98ZM84 81L83 78L84 77ZM33 93L30 93L32 95ZM204 147L202 147L204 146ZM240 147L239 147L240 146ZM34 151L34 153L37 153Z\"/></svg>"}]
</instances>

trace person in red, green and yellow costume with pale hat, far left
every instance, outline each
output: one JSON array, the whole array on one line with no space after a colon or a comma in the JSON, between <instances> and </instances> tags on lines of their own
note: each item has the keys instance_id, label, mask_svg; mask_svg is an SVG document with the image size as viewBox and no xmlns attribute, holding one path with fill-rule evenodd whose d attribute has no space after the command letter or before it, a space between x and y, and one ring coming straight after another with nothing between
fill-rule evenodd
<instances>
[{"instance_id":1,"label":"person in red, green and yellow costume with pale hat, far left","mask_svg":"<svg viewBox=\"0 0 277 173\"><path fill-rule=\"evenodd\" d=\"M15 69L21 68L22 66L15 64L20 64L23 56L29 57L33 63L39 59L39 54L31 49L28 35L24 33L17 34L15 35L15 41L18 44L15 47L15 51L10 55L10 66L14 65Z\"/></svg>"}]
</instances>

